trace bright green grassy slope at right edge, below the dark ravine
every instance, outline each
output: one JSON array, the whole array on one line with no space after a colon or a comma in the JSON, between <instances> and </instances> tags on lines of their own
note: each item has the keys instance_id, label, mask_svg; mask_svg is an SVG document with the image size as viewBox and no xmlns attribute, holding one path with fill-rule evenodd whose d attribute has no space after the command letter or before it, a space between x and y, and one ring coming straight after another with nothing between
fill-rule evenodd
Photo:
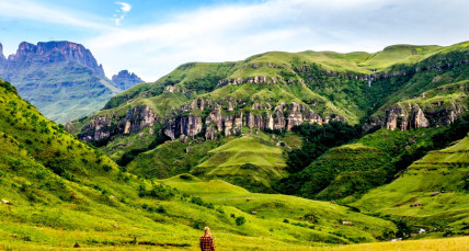
<instances>
[{"instance_id":1,"label":"bright green grassy slope at right edge, below the dark ravine","mask_svg":"<svg viewBox=\"0 0 469 251\"><path fill-rule=\"evenodd\" d=\"M464 190L469 175L469 138L415 161L399 179L370 191L352 205L381 215L404 217L425 228L450 226L467 232L469 196ZM466 181L467 182L467 181ZM431 196L433 192L444 193ZM410 207L422 203L422 207ZM465 230L466 229L466 230Z\"/></svg>"}]
</instances>

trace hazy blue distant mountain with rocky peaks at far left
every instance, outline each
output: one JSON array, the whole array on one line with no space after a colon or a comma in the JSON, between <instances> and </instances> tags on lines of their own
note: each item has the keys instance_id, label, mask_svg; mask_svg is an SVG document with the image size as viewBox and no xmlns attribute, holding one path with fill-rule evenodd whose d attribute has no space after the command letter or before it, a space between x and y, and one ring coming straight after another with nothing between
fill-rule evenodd
<instances>
[{"instance_id":1,"label":"hazy blue distant mountain with rocky peaks at far left","mask_svg":"<svg viewBox=\"0 0 469 251\"><path fill-rule=\"evenodd\" d=\"M71 42L23 42L8 58L0 45L0 77L13 82L48 118L64 124L94 113L111 96L144 82L126 70L110 81L91 52Z\"/></svg>"}]
</instances>

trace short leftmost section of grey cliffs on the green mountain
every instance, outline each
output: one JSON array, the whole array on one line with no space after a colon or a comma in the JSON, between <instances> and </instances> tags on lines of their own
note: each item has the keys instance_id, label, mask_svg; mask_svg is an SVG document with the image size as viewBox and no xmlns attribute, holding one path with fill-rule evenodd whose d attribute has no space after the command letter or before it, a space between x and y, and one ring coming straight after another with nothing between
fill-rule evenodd
<instances>
[{"instance_id":1,"label":"short leftmost section of grey cliffs on the green mountain","mask_svg":"<svg viewBox=\"0 0 469 251\"><path fill-rule=\"evenodd\" d=\"M157 122L157 115L148 105L135 106L125 116L103 115L94 117L88 124L79 138L85 141L100 141L115 135L138 133L151 127Z\"/></svg>"}]
</instances>

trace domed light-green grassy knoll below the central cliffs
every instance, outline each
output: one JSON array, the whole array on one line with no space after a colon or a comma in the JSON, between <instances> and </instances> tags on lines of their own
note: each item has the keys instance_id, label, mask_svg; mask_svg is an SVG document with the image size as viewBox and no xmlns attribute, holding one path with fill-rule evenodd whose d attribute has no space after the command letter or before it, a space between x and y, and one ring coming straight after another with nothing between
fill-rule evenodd
<instances>
[{"instance_id":1,"label":"domed light-green grassy knoll below the central cliffs","mask_svg":"<svg viewBox=\"0 0 469 251\"><path fill-rule=\"evenodd\" d=\"M271 191L287 175L282 148L255 136L243 136L208 151L210 156L192 170L208 179L220 178L251 191Z\"/></svg>"}]
</instances>

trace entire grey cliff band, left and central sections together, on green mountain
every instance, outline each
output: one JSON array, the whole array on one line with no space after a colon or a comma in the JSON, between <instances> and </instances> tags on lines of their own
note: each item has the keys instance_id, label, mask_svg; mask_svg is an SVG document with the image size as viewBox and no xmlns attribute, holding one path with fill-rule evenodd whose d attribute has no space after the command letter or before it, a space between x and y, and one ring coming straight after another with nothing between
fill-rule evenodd
<instances>
[{"instance_id":1,"label":"entire grey cliff band, left and central sections together, on green mountain","mask_svg":"<svg viewBox=\"0 0 469 251\"><path fill-rule=\"evenodd\" d=\"M201 115L205 114L205 115ZM191 103L174 110L172 115L158 118L147 105L128 111L126 116L96 116L79 135L87 141L99 141L119 134L137 133L156 123L164 125L163 133L171 139L181 135L195 137L203 134L207 139L216 139L218 135L229 136L241 134L242 127L253 129L290 130L304 123L322 124L330 121L345 121L343 117L322 118L307 105L293 102L272 105L270 103L245 104L234 99L220 102L195 99Z\"/></svg>"}]
</instances>

